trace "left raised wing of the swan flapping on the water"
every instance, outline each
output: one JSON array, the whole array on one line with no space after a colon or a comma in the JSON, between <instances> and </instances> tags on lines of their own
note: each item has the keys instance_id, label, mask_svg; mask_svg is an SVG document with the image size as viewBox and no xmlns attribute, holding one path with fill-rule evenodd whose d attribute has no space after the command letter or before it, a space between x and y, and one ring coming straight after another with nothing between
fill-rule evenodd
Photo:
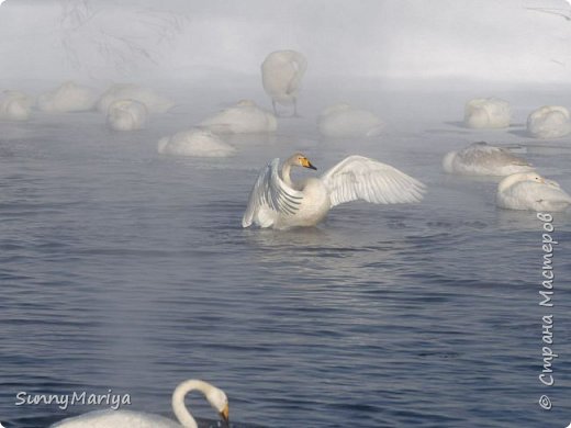
<instances>
[{"instance_id":1,"label":"left raised wing of the swan flapping on the water","mask_svg":"<svg viewBox=\"0 0 571 428\"><path fill-rule=\"evenodd\" d=\"M242 226L253 223L261 227L271 226L279 215L295 214L303 198L302 192L290 188L279 176L280 159L276 158L264 168L242 217Z\"/></svg>"}]
</instances>

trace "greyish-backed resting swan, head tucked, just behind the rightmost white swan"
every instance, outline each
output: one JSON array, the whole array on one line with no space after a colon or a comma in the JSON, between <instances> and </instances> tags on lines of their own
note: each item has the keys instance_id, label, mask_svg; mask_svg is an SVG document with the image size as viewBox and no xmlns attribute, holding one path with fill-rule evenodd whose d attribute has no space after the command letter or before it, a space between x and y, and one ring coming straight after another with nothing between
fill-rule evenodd
<instances>
[{"instance_id":1,"label":"greyish-backed resting swan, head tucked, just behind the rightmost white swan","mask_svg":"<svg viewBox=\"0 0 571 428\"><path fill-rule=\"evenodd\" d=\"M443 159L443 168L448 173L464 176L510 176L534 170L525 159L484 142L447 153Z\"/></svg>"}]
</instances>

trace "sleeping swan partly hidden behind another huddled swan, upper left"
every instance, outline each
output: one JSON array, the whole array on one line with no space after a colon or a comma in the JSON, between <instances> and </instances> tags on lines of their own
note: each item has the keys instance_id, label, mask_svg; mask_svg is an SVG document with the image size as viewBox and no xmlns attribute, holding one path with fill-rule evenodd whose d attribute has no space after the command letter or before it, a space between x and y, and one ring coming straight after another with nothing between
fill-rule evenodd
<instances>
[{"instance_id":1,"label":"sleeping swan partly hidden behind another huddled swan, upper left","mask_svg":"<svg viewBox=\"0 0 571 428\"><path fill-rule=\"evenodd\" d=\"M166 113L175 106L172 101L159 95L153 89L123 83L111 86L99 99L97 110L107 114L109 106L116 100L138 101L145 104L149 113Z\"/></svg>"}]
</instances>

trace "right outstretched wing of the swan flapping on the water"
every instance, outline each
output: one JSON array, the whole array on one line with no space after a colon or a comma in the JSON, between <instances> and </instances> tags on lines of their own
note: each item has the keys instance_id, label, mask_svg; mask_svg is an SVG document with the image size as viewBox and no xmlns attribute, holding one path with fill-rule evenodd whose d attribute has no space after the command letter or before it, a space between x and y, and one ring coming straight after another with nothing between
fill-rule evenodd
<instances>
[{"instance_id":1,"label":"right outstretched wing of the swan flapping on the water","mask_svg":"<svg viewBox=\"0 0 571 428\"><path fill-rule=\"evenodd\" d=\"M322 177L332 206L362 199L394 204L418 202L425 185L387 164L362 156L349 156Z\"/></svg>"}]
</instances>

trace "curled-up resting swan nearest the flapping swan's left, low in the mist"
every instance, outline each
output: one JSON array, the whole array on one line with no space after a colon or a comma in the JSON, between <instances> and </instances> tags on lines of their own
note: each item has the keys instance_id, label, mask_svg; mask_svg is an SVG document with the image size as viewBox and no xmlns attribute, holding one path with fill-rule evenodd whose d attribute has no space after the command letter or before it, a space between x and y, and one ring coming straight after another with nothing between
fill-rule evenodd
<instances>
[{"instance_id":1,"label":"curled-up resting swan nearest the flapping swan's left, low in the mist","mask_svg":"<svg viewBox=\"0 0 571 428\"><path fill-rule=\"evenodd\" d=\"M161 155L226 157L236 149L209 129L191 128L163 137L158 142Z\"/></svg>"}]
</instances>

